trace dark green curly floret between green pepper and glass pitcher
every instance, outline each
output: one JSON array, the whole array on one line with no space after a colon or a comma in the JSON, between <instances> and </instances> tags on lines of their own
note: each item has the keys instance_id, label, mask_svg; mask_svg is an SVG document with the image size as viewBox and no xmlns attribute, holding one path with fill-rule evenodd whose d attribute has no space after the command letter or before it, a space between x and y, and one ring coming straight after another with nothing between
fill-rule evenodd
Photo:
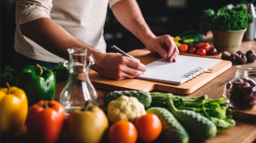
<instances>
[{"instance_id":1,"label":"dark green curly floret between green pepper and glass pitcher","mask_svg":"<svg viewBox=\"0 0 256 143\"><path fill-rule=\"evenodd\" d=\"M56 82L67 80L69 70L63 66L63 62L59 62L54 68L50 68L56 77Z\"/></svg>"}]
</instances>

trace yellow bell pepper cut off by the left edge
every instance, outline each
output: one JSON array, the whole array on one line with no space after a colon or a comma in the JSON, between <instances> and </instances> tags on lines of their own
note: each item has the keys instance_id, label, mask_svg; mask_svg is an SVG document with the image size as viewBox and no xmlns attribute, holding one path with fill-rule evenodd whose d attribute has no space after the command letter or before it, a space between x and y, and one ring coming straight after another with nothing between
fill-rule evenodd
<instances>
[{"instance_id":1,"label":"yellow bell pepper cut off by the left edge","mask_svg":"<svg viewBox=\"0 0 256 143\"><path fill-rule=\"evenodd\" d=\"M15 134L25 125L28 112L27 95L16 86L0 88L0 132Z\"/></svg>"}]
</instances>

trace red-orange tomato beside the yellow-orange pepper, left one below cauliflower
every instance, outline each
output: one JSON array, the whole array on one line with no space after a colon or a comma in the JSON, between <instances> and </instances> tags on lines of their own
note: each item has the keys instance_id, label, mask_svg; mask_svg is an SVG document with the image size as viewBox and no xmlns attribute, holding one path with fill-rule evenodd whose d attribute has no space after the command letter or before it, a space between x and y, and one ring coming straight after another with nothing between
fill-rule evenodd
<instances>
[{"instance_id":1,"label":"red-orange tomato beside the yellow-orange pepper, left one below cauliflower","mask_svg":"<svg viewBox=\"0 0 256 143\"><path fill-rule=\"evenodd\" d=\"M117 121L108 130L110 143L136 143L137 138L137 129L130 121Z\"/></svg>"}]
</instances>

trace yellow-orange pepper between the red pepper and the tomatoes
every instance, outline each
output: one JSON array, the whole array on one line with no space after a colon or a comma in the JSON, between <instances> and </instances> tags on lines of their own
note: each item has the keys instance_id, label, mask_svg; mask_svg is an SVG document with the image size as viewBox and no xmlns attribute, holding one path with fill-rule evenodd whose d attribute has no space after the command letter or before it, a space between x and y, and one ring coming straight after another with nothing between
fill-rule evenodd
<instances>
[{"instance_id":1,"label":"yellow-orange pepper between the red pepper and the tomatoes","mask_svg":"<svg viewBox=\"0 0 256 143\"><path fill-rule=\"evenodd\" d=\"M98 106L72 110L66 120L67 139L72 143L100 143L108 130L108 118Z\"/></svg>"}]
</instances>

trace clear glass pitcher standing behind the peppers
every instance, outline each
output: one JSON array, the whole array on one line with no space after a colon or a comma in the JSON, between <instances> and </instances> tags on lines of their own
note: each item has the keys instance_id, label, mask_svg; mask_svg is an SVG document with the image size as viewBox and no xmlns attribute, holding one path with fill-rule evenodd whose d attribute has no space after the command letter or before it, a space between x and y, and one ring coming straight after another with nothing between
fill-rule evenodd
<instances>
[{"instance_id":1,"label":"clear glass pitcher standing behind the peppers","mask_svg":"<svg viewBox=\"0 0 256 143\"><path fill-rule=\"evenodd\" d=\"M92 105L99 105L97 92L88 75L90 66L94 64L93 57L87 56L87 49L83 48L69 48L67 51L69 62L65 61L64 66L69 70L69 75L59 99L66 115L76 108L84 107L89 100Z\"/></svg>"}]
</instances>

